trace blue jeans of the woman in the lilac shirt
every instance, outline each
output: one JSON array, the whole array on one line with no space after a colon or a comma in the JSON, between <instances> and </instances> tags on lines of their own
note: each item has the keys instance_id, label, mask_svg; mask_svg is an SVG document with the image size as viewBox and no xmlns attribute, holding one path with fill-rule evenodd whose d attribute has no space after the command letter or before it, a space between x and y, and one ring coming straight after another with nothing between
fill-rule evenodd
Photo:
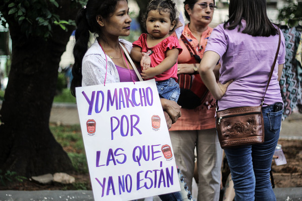
<instances>
[{"instance_id":1,"label":"blue jeans of the woman in the lilac shirt","mask_svg":"<svg viewBox=\"0 0 302 201\"><path fill-rule=\"evenodd\" d=\"M224 149L236 192L235 200L275 201L270 181L272 158L279 139L282 110L263 107L264 143Z\"/></svg>"}]
</instances>

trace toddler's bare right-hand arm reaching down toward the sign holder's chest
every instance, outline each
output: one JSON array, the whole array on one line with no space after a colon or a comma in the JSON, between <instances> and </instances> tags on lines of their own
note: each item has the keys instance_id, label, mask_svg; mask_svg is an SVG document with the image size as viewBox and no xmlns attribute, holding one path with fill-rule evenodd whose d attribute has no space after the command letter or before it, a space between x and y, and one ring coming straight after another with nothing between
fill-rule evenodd
<instances>
[{"instance_id":1,"label":"toddler's bare right-hand arm reaching down toward the sign holder's chest","mask_svg":"<svg viewBox=\"0 0 302 201\"><path fill-rule=\"evenodd\" d=\"M141 77L143 79L146 78L152 78L156 75L162 74L166 70L172 68L174 64L177 62L179 50L177 48L174 48L172 50L168 50L166 55L167 57L157 66L154 68L147 68L145 70L142 70Z\"/></svg>"}]
</instances>

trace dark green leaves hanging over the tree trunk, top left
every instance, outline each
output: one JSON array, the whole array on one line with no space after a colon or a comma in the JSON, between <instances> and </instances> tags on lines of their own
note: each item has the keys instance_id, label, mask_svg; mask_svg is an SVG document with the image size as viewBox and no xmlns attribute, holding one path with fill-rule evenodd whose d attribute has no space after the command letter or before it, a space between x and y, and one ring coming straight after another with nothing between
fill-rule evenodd
<instances>
[{"instance_id":1,"label":"dark green leaves hanging over the tree trunk, top left","mask_svg":"<svg viewBox=\"0 0 302 201\"><path fill-rule=\"evenodd\" d=\"M87 1L71 2L84 6ZM3 17L10 17L20 25L21 32L27 37L35 35L47 39L52 34L52 25L60 26L66 31L66 25L75 26L74 20L60 19L55 13L57 8L59 4L55 0L4 0L4 4L0 4L0 22L6 26L7 20Z\"/></svg>"}]
</instances>

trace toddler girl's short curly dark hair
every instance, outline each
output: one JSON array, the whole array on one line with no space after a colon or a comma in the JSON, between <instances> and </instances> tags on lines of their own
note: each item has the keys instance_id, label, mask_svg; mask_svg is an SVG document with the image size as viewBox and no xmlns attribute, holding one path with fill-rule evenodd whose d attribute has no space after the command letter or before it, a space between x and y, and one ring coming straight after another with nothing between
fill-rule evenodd
<instances>
[{"instance_id":1,"label":"toddler girl's short curly dark hair","mask_svg":"<svg viewBox=\"0 0 302 201\"><path fill-rule=\"evenodd\" d=\"M159 11L160 14L165 13L165 12L170 13L171 23L173 21L175 21L175 26L170 31L170 33L172 33L179 21L178 11L175 6L175 3L172 0L164 0L164 1L163 0L151 0L147 5L146 12L144 14L142 14L142 18L141 18L141 24L144 27L144 29L146 29L146 20L148 17L148 13L149 13L149 11L152 11L152 10L157 10L157 11Z\"/></svg>"}]
</instances>

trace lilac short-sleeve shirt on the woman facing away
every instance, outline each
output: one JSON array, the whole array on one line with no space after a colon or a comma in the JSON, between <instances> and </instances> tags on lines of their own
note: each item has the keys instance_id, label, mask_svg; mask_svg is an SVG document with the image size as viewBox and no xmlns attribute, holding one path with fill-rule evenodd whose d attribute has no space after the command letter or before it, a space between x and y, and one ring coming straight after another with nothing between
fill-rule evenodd
<instances>
[{"instance_id":1,"label":"lilac short-sleeve shirt on the woman facing away","mask_svg":"<svg viewBox=\"0 0 302 201\"><path fill-rule=\"evenodd\" d=\"M242 21L243 28L245 21ZM285 63L284 36L274 72L267 89L264 103L282 102L278 78L278 64ZM269 73L278 47L279 36L253 37L228 30L218 25L209 37L205 51L214 51L220 56L221 83L234 79L224 96L218 100L219 111L242 106L259 106L264 95Z\"/></svg>"}]
</instances>

